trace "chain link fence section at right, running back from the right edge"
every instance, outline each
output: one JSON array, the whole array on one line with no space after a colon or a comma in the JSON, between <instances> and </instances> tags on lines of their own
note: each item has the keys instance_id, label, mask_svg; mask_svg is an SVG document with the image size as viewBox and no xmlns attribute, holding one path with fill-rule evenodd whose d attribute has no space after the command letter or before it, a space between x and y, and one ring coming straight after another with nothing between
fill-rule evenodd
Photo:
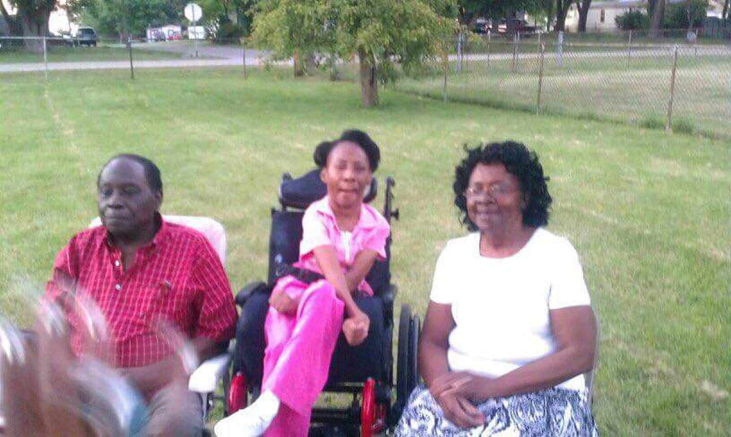
<instances>
[{"instance_id":1,"label":"chain link fence section at right, running back from the right edge","mask_svg":"<svg viewBox=\"0 0 731 437\"><path fill-rule=\"evenodd\" d=\"M624 42L556 34L463 39L454 53L395 88L445 100L731 137L727 40L639 44L629 34L624 37Z\"/></svg>"}]
</instances>

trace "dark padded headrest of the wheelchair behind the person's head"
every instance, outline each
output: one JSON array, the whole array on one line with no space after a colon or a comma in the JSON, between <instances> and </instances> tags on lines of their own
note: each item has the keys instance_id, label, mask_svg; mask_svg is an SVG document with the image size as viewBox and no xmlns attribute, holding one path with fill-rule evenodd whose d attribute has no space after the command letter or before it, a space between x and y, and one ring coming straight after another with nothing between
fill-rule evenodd
<instances>
[{"instance_id":1,"label":"dark padded headrest of the wheelchair behind the person's head","mask_svg":"<svg viewBox=\"0 0 731 437\"><path fill-rule=\"evenodd\" d=\"M319 178L320 170L316 168L297 179L289 173L281 176L279 184L279 202L283 207L306 209L312 202L322 199L327 194L325 183ZM378 180L371 178L363 202L371 202L378 194Z\"/></svg>"}]
</instances>

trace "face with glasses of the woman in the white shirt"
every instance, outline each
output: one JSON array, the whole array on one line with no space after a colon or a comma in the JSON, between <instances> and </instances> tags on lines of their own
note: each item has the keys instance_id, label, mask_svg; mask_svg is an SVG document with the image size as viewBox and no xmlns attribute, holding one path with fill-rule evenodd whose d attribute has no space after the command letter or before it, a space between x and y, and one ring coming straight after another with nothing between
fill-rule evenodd
<instances>
[{"instance_id":1,"label":"face with glasses of the woman in the white shirt","mask_svg":"<svg viewBox=\"0 0 731 437\"><path fill-rule=\"evenodd\" d=\"M523 223L520 183L503 164L477 164L469 176L465 197L467 216L481 232Z\"/></svg>"}]
</instances>

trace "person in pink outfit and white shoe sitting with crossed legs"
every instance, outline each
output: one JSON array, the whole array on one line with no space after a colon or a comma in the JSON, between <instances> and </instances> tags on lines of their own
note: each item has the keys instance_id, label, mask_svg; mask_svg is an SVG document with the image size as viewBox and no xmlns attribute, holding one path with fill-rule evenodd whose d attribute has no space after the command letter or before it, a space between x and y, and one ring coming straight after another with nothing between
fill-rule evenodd
<instances>
[{"instance_id":1,"label":"person in pink outfit and white shoe sitting with crossed legs","mask_svg":"<svg viewBox=\"0 0 731 437\"><path fill-rule=\"evenodd\" d=\"M389 225L363 203L379 159L378 145L357 130L317 146L314 160L327 195L305 211L294 267L324 278L277 281L264 327L262 395L216 424L216 436L307 436L341 331L352 346L366 339L370 320L352 295L373 295L366 275L386 257Z\"/></svg>"}]
</instances>

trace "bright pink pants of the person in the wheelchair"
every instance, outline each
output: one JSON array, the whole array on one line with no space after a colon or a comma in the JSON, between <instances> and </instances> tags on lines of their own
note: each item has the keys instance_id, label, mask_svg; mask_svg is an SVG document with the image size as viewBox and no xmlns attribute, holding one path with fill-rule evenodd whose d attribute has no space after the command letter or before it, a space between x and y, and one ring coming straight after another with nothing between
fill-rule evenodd
<instances>
[{"instance_id":1,"label":"bright pink pants of the person in the wheelchair","mask_svg":"<svg viewBox=\"0 0 731 437\"><path fill-rule=\"evenodd\" d=\"M296 314L269 308L264 324L262 392L271 390L281 401L279 413L265 436L306 437L312 406L327 382L330 359L343 325L343 303L327 281L287 285L300 295Z\"/></svg>"}]
</instances>

